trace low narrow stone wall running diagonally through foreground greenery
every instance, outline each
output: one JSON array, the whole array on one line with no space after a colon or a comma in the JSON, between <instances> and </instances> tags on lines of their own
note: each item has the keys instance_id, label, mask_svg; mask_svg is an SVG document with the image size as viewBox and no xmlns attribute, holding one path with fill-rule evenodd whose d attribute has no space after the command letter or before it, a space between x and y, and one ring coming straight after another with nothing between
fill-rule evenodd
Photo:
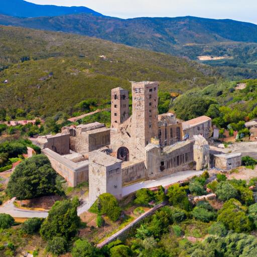
<instances>
[{"instance_id":1,"label":"low narrow stone wall running diagonally through foreground greenery","mask_svg":"<svg viewBox=\"0 0 257 257\"><path fill-rule=\"evenodd\" d=\"M148 217L150 215L153 215L157 210L159 210L160 208L164 207L165 205L167 205L167 203L160 203L160 204L156 205L154 208L150 209L149 211L143 213L140 217L138 217L137 219L132 221L129 225L127 225L124 228L120 229L118 232L116 232L115 234L111 235L110 237L108 237L107 239L102 241L101 243L98 243L97 247L98 248L102 248L104 245L106 245L106 244L116 240L117 238L122 236L124 233L129 231L131 228L133 228L141 220L145 219L146 217Z\"/></svg>"}]
</instances>

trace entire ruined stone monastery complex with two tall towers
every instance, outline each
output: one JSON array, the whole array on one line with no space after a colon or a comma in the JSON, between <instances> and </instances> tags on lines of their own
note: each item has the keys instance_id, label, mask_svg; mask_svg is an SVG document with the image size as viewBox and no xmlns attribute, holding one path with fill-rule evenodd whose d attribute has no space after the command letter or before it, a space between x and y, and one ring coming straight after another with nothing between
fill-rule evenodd
<instances>
[{"instance_id":1,"label":"entire ruined stone monastery complex with two tall towers","mask_svg":"<svg viewBox=\"0 0 257 257\"><path fill-rule=\"evenodd\" d=\"M89 182L90 203L105 192L120 199L131 183L209 167L210 118L182 124L173 113L158 115L158 82L133 82L132 101L130 115L129 92L114 88L110 129L99 122L71 125L37 140L70 186Z\"/></svg>"}]
</instances>

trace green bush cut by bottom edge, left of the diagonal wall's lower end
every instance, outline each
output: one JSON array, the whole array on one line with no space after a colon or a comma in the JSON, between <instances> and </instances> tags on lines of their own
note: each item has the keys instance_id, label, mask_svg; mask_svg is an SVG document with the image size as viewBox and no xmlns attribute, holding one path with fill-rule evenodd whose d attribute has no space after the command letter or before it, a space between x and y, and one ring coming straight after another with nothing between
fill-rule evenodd
<instances>
[{"instance_id":1,"label":"green bush cut by bottom edge, left of the diagonal wall's lower end","mask_svg":"<svg viewBox=\"0 0 257 257\"><path fill-rule=\"evenodd\" d=\"M71 251L72 257L101 257L102 254L87 240L78 239Z\"/></svg>"}]
</instances>

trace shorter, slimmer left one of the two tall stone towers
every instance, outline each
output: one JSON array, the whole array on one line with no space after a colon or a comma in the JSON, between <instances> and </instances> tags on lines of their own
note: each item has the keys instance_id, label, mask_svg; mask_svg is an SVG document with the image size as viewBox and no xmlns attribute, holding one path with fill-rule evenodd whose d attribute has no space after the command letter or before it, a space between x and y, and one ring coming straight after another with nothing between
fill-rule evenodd
<instances>
[{"instance_id":1,"label":"shorter, slimmer left one of the two tall stone towers","mask_svg":"<svg viewBox=\"0 0 257 257\"><path fill-rule=\"evenodd\" d=\"M111 90L111 127L117 129L130 116L129 91L116 87Z\"/></svg>"}]
</instances>

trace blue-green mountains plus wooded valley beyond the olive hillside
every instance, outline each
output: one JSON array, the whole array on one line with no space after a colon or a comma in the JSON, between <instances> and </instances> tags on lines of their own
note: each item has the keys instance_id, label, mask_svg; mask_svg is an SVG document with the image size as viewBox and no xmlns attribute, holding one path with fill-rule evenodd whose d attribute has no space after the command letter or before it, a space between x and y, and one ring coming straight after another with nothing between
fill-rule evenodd
<instances>
[{"instance_id":1,"label":"blue-green mountains plus wooded valley beyond the olive hillside","mask_svg":"<svg viewBox=\"0 0 257 257\"><path fill-rule=\"evenodd\" d=\"M133 47L198 60L216 66L229 79L256 78L257 26L196 17L122 20L86 14L16 18L0 15L0 24L97 37Z\"/></svg>"}]
</instances>

